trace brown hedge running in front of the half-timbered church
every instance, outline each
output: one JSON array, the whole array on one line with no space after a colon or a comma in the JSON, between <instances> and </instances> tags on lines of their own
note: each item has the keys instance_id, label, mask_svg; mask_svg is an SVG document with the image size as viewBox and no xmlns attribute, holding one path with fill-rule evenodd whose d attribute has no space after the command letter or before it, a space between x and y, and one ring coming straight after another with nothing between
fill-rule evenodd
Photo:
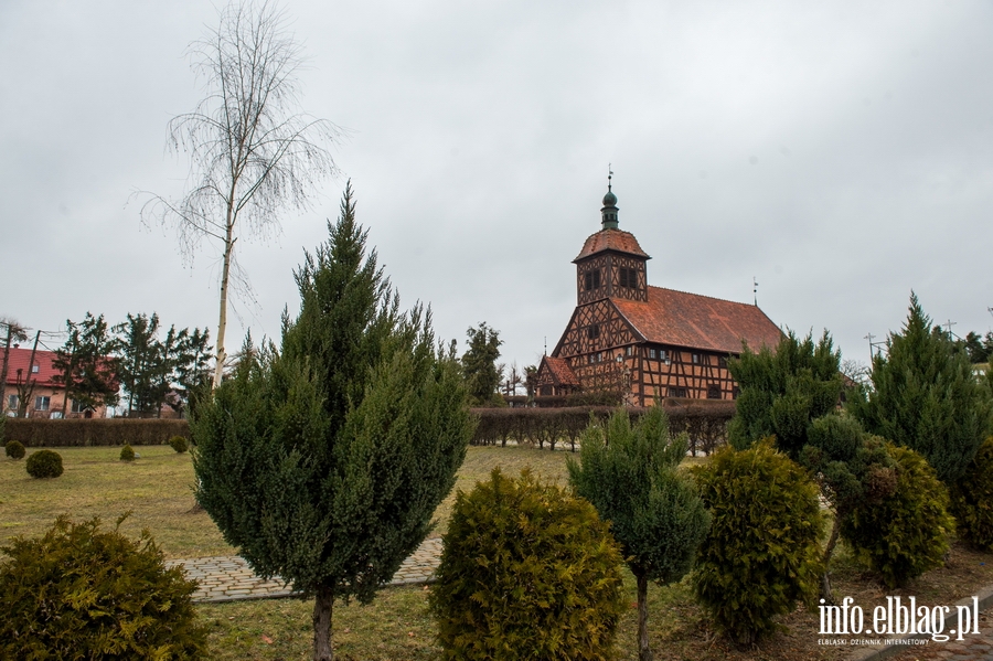
<instances>
[{"instance_id":1,"label":"brown hedge running in front of the half-timbered church","mask_svg":"<svg viewBox=\"0 0 993 661\"><path fill-rule=\"evenodd\" d=\"M735 403L712 399L664 399L669 425L674 434L690 435L690 450L713 452L727 438L727 423L735 415ZM472 445L501 445L509 440L538 448L567 443L576 451L576 441L589 424L590 415L606 420L611 406L564 406L559 408L473 408L479 417ZM632 417L645 409L629 407Z\"/></svg>"}]
</instances>

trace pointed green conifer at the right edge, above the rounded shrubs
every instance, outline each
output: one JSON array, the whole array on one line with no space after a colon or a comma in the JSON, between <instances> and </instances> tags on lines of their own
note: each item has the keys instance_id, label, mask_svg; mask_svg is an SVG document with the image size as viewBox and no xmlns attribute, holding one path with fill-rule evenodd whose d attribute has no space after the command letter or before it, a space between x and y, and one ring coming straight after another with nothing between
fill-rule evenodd
<instances>
[{"instance_id":1,"label":"pointed green conifer at the right edge, above the rounded shrubs","mask_svg":"<svg viewBox=\"0 0 993 661\"><path fill-rule=\"evenodd\" d=\"M900 333L886 342L888 355L873 359L871 391L848 409L872 434L917 450L951 484L990 430L991 403L963 351L931 328L917 300Z\"/></svg>"}]
</instances>

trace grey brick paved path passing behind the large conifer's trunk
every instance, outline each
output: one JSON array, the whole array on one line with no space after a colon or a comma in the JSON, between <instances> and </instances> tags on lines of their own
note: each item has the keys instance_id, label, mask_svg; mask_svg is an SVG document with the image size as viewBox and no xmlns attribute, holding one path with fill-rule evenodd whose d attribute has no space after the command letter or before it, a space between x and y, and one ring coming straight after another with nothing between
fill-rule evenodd
<instances>
[{"instance_id":1,"label":"grey brick paved path passing behind the large conifer's trunk","mask_svg":"<svg viewBox=\"0 0 993 661\"><path fill-rule=\"evenodd\" d=\"M441 537L425 540L414 555L404 561L389 585L429 583L441 558ZM192 559L173 559L166 563L180 565L188 578L194 578L200 587L193 594L194 601L236 601L239 599L267 599L292 594L281 580L265 580L256 576L243 558L236 555L218 555Z\"/></svg>"}]
</instances>

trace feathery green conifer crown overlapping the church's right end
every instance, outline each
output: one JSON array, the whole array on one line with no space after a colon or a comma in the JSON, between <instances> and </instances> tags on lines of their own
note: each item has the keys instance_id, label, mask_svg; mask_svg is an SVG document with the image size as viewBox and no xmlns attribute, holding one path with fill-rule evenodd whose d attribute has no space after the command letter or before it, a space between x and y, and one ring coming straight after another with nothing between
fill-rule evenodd
<instances>
[{"instance_id":1,"label":"feathery green conifer crown overlapping the church's right end","mask_svg":"<svg viewBox=\"0 0 993 661\"><path fill-rule=\"evenodd\" d=\"M840 360L826 331L816 344L813 335L799 340L790 331L775 353L768 347L758 353L746 347L728 361L741 388L727 430L730 445L740 450L776 436L776 447L797 459L810 422L837 406L844 388Z\"/></svg>"}]
</instances>

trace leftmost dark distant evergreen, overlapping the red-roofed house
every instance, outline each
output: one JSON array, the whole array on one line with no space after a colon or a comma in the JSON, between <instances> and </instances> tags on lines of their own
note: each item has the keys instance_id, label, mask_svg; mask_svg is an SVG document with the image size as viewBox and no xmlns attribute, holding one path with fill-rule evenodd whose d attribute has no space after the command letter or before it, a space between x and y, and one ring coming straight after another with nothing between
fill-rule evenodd
<instances>
[{"instance_id":1,"label":"leftmost dark distant evergreen, overlapping the red-roofed house","mask_svg":"<svg viewBox=\"0 0 993 661\"><path fill-rule=\"evenodd\" d=\"M114 335L104 316L94 317L86 312L78 323L66 319L65 329L68 338L55 350L52 361L57 371L52 381L65 387L62 417L68 411L70 399L94 408L114 406L119 398L117 361L111 355Z\"/></svg>"}]
</instances>

